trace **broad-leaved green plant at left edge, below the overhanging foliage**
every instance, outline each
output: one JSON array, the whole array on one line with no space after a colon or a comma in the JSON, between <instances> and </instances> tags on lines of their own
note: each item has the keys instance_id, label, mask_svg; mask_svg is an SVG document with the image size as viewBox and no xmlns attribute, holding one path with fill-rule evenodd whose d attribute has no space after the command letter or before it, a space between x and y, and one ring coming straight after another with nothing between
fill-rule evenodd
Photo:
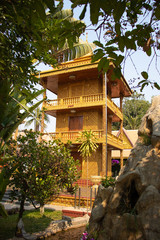
<instances>
[{"instance_id":1,"label":"broad-leaved green plant at left edge, below the overhanging foliage","mask_svg":"<svg viewBox=\"0 0 160 240\"><path fill-rule=\"evenodd\" d=\"M18 128L18 126L23 122L23 120L31 114L31 111L33 111L35 108L37 108L42 101L39 101L32 105L31 107L28 107L28 103L32 101L32 99L36 98L40 94L43 93L43 90L40 90L36 93L28 93L21 95L19 92L17 92L14 88L9 94L8 102L7 102L7 109L3 114L1 114L1 121L0 121L0 154L1 156L5 155L5 148L6 148L6 142L9 140L9 138L12 137L12 134L14 131ZM1 93L3 96L5 93ZM21 110L21 111L20 111ZM12 157L10 157L12 158ZM7 164L7 159L4 161L3 164ZM1 160L2 163L2 160ZM3 168L0 172L0 200L2 200L3 195L5 193L6 187L9 183L9 178L11 177L11 173L15 170L15 167L13 166L10 171L6 171L5 168ZM0 205L0 213L3 214L3 216L6 216L6 212L4 209L2 209L2 205Z\"/></svg>"}]
</instances>

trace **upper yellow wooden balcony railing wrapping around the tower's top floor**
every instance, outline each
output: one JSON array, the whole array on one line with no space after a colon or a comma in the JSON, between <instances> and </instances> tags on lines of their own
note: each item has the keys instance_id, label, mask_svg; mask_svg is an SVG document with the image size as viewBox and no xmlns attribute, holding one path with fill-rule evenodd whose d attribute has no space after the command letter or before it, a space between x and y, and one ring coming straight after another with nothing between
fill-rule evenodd
<instances>
[{"instance_id":1,"label":"upper yellow wooden balcony railing wrapping around the tower's top floor","mask_svg":"<svg viewBox=\"0 0 160 240\"><path fill-rule=\"evenodd\" d=\"M84 107L96 107L105 105L105 97L102 93L83 95L78 97L68 97L55 100L48 100L44 103L46 111L58 111L66 109L84 108ZM117 105L107 96L107 108L115 114L119 119L123 119L123 114Z\"/></svg>"}]
</instances>

